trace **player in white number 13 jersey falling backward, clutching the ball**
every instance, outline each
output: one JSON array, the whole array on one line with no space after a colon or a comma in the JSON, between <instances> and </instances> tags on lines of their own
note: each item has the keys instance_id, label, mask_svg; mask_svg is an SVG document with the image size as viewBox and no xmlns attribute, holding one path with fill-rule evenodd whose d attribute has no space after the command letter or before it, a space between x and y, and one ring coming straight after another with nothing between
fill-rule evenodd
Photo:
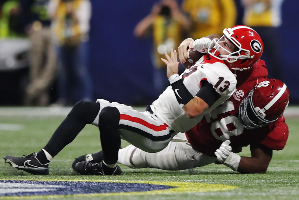
<instances>
[{"instance_id":1,"label":"player in white number 13 jersey falling backward, clutching the ball","mask_svg":"<svg viewBox=\"0 0 299 200\"><path fill-rule=\"evenodd\" d=\"M4 156L5 162L31 174L48 174L49 161L73 141L86 124L99 127L104 159L97 164L77 163L80 174L120 175L117 160L121 138L147 152L161 151L173 136L194 127L205 114L234 93L237 81L230 67L248 68L260 58L263 43L252 28L232 27L223 33L225 38L212 45L209 54L181 75L176 51L171 51L171 57L166 54L164 62L170 86L146 112L103 99L96 103L79 101L38 153ZM255 51L252 40L259 44L259 51Z\"/></svg>"}]
</instances>

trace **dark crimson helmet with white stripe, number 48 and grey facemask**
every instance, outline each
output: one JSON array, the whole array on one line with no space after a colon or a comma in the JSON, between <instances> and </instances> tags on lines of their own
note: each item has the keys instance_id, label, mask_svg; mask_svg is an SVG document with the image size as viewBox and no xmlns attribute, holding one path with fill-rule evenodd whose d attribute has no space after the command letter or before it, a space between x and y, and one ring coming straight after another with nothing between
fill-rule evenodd
<instances>
[{"instance_id":1,"label":"dark crimson helmet with white stripe, number 48 and grey facemask","mask_svg":"<svg viewBox=\"0 0 299 200\"><path fill-rule=\"evenodd\" d=\"M239 120L246 129L266 126L276 121L289 104L289 89L277 79L257 84L242 100Z\"/></svg>"}]
</instances>

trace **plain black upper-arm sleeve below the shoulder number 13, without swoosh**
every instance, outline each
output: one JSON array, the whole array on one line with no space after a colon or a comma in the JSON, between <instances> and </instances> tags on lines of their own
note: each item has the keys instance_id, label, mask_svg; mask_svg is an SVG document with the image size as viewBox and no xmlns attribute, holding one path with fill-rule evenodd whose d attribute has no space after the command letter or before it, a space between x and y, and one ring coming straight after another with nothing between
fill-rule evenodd
<instances>
[{"instance_id":1,"label":"plain black upper-arm sleeve below the shoulder number 13, without swoosh","mask_svg":"<svg viewBox=\"0 0 299 200\"><path fill-rule=\"evenodd\" d=\"M205 101L211 107L218 99L219 94L208 81L202 82L202 88L195 95Z\"/></svg>"}]
</instances>

